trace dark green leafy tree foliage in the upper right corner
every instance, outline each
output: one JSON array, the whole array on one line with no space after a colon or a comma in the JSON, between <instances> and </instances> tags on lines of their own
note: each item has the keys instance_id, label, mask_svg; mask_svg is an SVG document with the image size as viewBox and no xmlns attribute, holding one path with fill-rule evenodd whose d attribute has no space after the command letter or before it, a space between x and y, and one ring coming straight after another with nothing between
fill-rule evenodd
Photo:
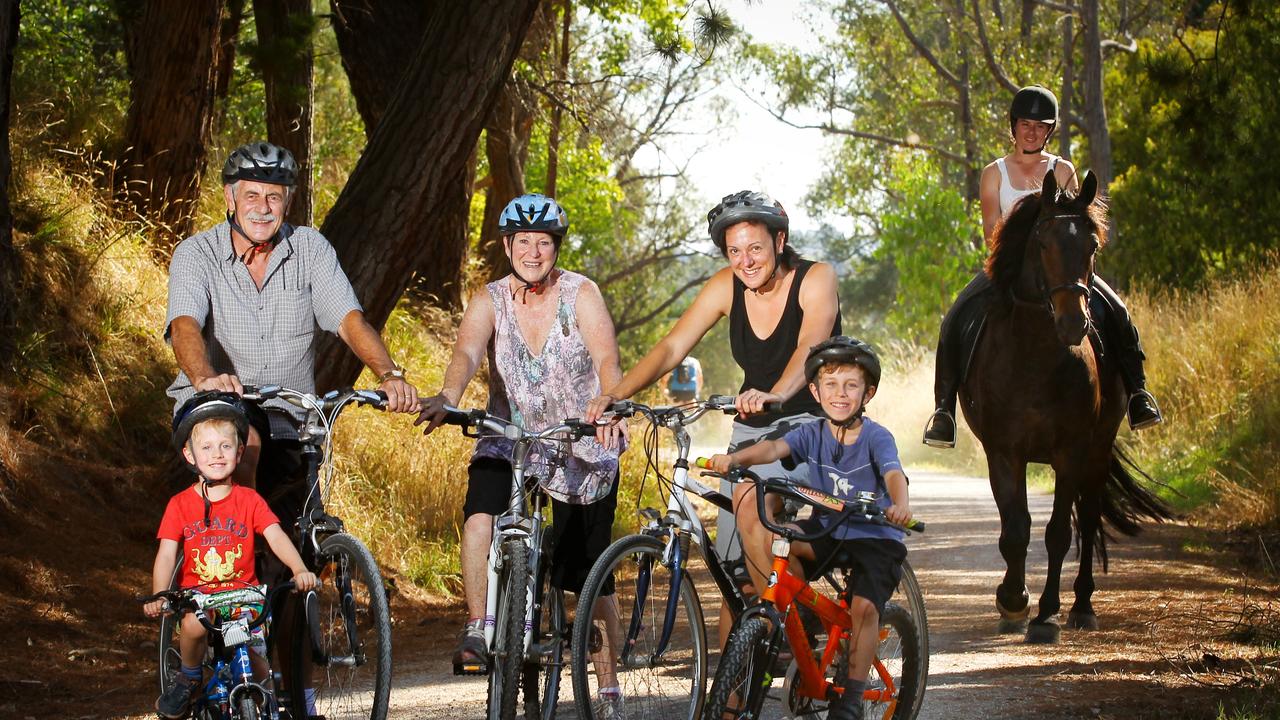
<instances>
[{"instance_id":1,"label":"dark green leafy tree foliage in the upper right corner","mask_svg":"<svg viewBox=\"0 0 1280 720\"><path fill-rule=\"evenodd\" d=\"M1112 87L1117 240L1107 269L1189 287L1280 247L1280 5L1217 4L1203 26L1143 42Z\"/></svg>"}]
</instances>

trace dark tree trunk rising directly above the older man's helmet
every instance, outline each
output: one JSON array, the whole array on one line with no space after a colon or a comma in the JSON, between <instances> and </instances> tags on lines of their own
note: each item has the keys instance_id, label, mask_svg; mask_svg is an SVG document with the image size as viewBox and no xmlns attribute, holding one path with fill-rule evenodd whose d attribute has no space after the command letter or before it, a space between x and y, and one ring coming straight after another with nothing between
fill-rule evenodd
<instances>
[{"instance_id":1,"label":"dark tree trunk rising directly above the older man's helmet","mask_svg":"<svg viewBox=\"0 0 1280 720\"><path fill-rule=\"evenodd\" d=\"M311 224L311 100L315 96L311 0L253 0L259 64L266 86L266 138L293 152L298 184L288 222Z\"/></svg>"}]
</instances>

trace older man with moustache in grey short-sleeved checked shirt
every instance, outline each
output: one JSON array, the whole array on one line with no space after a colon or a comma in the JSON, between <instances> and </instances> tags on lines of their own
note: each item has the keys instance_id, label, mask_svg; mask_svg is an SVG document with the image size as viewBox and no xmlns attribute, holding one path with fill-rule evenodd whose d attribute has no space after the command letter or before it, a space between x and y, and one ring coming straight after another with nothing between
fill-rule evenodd
<instances>
[{"instance_id":1,"label":"older man with moustache in grey short-sleeved checked shirt","mask_svg":"<svg viewBox=\"0 0 1280 720\"><path fill-rule=\"evenodd\" d=\"M284 223L297 169L293 155L270 142L237 147L223 167L227 222L174 250L165 320L180 369L168 391L174 407L201 391L241 392L242 383L314 391L319 327L374 372L390 410L416 411L417 391L365 320L333 246L314 228ZM302 411L280 402L266 415L269 430L260 421L250 432L241 484L256 487L260 462L265 486L294 474ZM280 503L284 489L260 488L287 512L280 518L294 518L300 507Z\"/></svg>"}]
</instances>

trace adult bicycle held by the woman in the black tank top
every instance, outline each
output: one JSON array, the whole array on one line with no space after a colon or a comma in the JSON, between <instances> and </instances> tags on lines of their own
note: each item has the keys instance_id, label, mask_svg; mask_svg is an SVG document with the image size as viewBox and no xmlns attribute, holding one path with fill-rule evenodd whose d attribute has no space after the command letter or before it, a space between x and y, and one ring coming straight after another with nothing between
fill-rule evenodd
<instances>
[{"instance_id":1,"label":"adult bicycle held by the woman in the black tank top","mask_svg":"<svg viewBox=\"0 0 1280 720\"><path fill-rule=\"evenodd\" d=\"M691 544L699 548L717 594L735 618L746 609L748 600L739 589L733 564L719 556L690 501L689 496L696 495L721 510L733 511L728 496L690 478L692 442L686 428L708 413L736 413L735 401L735 396L722 395L673 406L650 407L622 401L609 407L609 415L630 418L639 414L649 420L644 450L650 469L669 492L666 512L653 507L640 510L645 525L639 533L611 544L595 561L582 587L570 655L573 698L584 720L607 717L607 710L594 701L599 683L593 682L588 673L589 653L604 643L617 659L618 685L628 719L695 720L701 716L708 638L698 578L690 565ZM669 480L658 471L659 428L671 430L676 441L677 455ZM623 633L617 638L603 633L605 623L594 616L595 600L611 574L614 577L620 629ZM833 573L828 571L826 578L835 587L841 587ZM905 609L916 628L927 628L924 597L905 561L893 600ZM915 643L915 655L927 659L928 633L918 633ZM925 669L927 665L922 666L922 671ZM795 670L788 676L794 674ZM916 702L913 715L918 710Z\"/></svg>"}]
</instances>

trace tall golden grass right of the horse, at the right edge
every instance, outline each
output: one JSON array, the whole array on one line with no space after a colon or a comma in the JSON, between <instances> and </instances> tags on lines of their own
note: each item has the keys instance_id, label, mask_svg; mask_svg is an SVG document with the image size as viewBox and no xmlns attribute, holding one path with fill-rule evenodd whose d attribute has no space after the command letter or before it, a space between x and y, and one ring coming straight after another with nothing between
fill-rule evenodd
<instances>
[{"instance_id":1,"label":"tall golden grass right of the horse, at the right edge","mask_svg":"<svg viewBox=\"0 0 1280 720\"><path fill-rule=\"evenodd\" d=\"M1147 375L1165 423L1125 441L1184 509L1216 523L1280 514L1280 273L1203 292L1135 292Z\"/></svg>"}]
</instances>

